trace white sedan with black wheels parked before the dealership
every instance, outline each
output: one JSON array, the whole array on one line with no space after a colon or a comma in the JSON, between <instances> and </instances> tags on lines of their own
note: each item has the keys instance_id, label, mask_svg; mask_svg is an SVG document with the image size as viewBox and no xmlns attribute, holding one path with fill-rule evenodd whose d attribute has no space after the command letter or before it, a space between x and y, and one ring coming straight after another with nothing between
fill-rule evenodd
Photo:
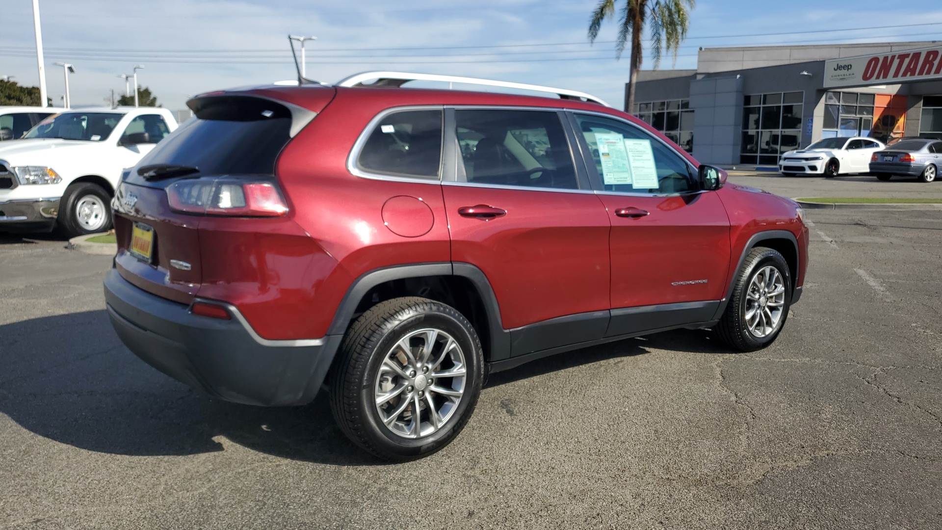
<instances>
[{"instance_id":1,"label":"white sedan with black wheels parked before the dealership","mask_svg":"<svg viewBox=\"0 0 942 530\"><path fill-rule=\"evenodd\" d=\"M796 174L824 174L833 178L838 174L868 173L870 157L885 147L872 138L826 138L804 149L788 151L779 158L778 169L786 176Z\"/></svg>"}]
</instances>

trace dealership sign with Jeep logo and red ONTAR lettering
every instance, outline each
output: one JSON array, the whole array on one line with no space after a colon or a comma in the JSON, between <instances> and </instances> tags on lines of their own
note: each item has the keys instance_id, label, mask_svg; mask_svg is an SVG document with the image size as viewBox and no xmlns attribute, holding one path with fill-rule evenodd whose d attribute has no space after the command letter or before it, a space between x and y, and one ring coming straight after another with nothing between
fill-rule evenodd
<instances>
[{"instance_id":1,"label":"dealership sign with Jeep logo and red ONTAR lettering","mask_svg":"<svg viewBox=\"0 0 942 530\"><path fill-rule=\"evenodd\" d=\"M885 85L942 77L942 46L824 61L824 88Z\"/></svg>"}]
</instances>

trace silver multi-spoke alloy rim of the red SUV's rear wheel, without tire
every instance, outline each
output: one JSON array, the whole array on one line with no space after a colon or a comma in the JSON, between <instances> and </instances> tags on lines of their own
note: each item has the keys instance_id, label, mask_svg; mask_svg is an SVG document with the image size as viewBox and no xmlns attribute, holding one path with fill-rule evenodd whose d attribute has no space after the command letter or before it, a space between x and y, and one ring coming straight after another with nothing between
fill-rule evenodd
<instances>
[{"instance_id":1,"label":"silver multi-spoke alloy rim of the red SUV's rear wheel, without tire","mask_svg":"<svg viewBox=\"0 0 942 530\"><path fill-rule=\"evenodd\" d=\"M398 340L382 359L374 388L382 423L404 438L438 432L464 396L461 346L445 331L425 328Z\"/></svg>"}]
</instances>

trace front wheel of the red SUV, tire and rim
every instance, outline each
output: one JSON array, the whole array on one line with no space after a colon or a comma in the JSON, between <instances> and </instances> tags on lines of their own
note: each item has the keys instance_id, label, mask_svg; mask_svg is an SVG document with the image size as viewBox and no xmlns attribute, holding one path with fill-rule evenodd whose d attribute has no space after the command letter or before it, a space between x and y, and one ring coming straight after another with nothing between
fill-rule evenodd
<instances>
[{"instance_id":1,"label":"front wheel of the red SUV, tire and rim","mask_svg":"<svg viewBox=\"0 0 942 530\"><path fill-rule=\"evenodd\" d=\"M791 273L785 258L771 248L755 247L736 276L713 335L740 352L765 348L782 331L790 305Z\"/></svg>"}]
</instances>

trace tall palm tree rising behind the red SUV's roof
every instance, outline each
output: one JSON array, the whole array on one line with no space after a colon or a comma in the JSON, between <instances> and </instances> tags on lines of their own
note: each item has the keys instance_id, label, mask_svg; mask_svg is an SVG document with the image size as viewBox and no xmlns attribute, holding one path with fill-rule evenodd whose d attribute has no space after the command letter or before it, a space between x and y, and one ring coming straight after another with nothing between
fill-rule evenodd
<instances>
[{"instance_id":1,"label":"tall palm tree rising behind the red SUV's roof","mask_svg":"<svg viewBox=\"0 0 942 530\"><path fill-rule=\"evenodd\" d=\"M589 23L590 42L594 42L598 37L602 23L609 17L615 17L615 2L616 0L599 0ZM687 38L690 9L694 8L695 3L696 0L625 0L625 5L618 14L618 40L615 41L615 57L621 58L628 38L631 38L628 101L625 111L633 112L635 108L635 84L638 81L638 69L642 67L644 24L647 23L650 28L651 55L654 56L654 67L657 69L661 51L674 52L674 61L677 60L677 49Z\"/></svg>"}]
</instances>

